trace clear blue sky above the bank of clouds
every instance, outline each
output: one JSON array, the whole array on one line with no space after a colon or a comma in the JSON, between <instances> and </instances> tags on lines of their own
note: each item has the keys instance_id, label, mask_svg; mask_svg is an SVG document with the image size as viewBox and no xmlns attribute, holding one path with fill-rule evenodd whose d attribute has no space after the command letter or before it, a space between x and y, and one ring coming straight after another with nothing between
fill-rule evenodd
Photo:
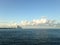
<instances>
[{"instance_id":1,"label":"clear blue sky above the bank of clouds","mask_svg":"<svg viewBox=\"0 0 60 45\"><path fill-rule=\"evenodd\" d=\"M60 0L0 0L0 22L60 19Z\"/></svg>"}]
</instances>

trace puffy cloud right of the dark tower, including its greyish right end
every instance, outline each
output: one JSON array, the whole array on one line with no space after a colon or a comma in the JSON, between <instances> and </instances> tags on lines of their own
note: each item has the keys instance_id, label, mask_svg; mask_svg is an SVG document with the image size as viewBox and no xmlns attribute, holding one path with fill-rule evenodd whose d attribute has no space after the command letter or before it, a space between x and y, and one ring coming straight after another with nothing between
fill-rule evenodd
<instances>
[{"instance_id":1,"label":"puffy cloud right of the dark tower, including its greyish right end","mask_svg":"<svg viewBox=\"0 0 60 45\"><path fill-rule=\"evenodd\" d=\"M46 17L42 17L41 19L33 19L32 21L27 21L27 20L24 20L24 21L21 21L20 25L22 26L27 26L27 25L39 25L39 24L53 24L55 21L54 20L48 20Z\"/></svg>"}]
</instances>

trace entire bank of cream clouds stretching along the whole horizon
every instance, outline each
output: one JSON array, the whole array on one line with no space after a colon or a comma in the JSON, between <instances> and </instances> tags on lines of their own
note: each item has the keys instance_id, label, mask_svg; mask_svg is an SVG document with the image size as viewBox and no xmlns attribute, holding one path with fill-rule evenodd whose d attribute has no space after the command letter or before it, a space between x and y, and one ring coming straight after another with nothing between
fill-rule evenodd
<instances>
[{"instance_id":1,"label":"entire bank of cream clouds stretching along the whole horizon","mask_svg":"<svg viewBox=\"0 0 60 45\"><path fill-rule=\"evenodd\" d=\"M23 20L20 22L20 24L18 24L19 26L34 26L34 25L39 25L39 24L54 24L56 23L55 20L48 20L46 19L46 17L42 17L41 19L33 19L32 21L28 21L28 20ZM13 23L0 23L0 27L10 27L10 28L17 28L17 23L13 22Z\"/></svg>"}]
</instances>

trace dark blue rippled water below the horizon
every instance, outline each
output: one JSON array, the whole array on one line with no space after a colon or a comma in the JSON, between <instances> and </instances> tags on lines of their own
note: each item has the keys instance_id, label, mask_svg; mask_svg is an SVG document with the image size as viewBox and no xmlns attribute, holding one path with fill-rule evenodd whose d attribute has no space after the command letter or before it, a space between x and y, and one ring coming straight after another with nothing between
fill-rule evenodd
<instances>
[{"instance_id":1,"label":"dark blue rippled water below the horizon","mask_svg":"<svg viewBox=\"0 0 60 45\"><path fill-rule=\"evenodd\" d=\"M0 29L0 45L60 45L60 29Z\"/></svg>"}]
</instances>

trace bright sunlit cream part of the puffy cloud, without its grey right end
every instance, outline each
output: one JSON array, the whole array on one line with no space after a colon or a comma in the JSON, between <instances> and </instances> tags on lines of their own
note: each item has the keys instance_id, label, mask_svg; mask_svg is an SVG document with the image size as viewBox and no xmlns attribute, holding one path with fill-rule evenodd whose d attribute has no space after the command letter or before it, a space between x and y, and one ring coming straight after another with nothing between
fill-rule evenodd
<instances>
[{"instance_id":1,"label":"bright sunlit cream part of the puffy cloud, without its grey right end","mask_svg":"<svg viewBox=\"0 0 60 45\"><path fill-rule=\"evenodd\" d=\"M47 22L47 19L45 18L37 19L37 20L33 19L31 22L24 20L24 21L21 21L20 25L38 25L46 22Z\"/></svg>"}]
</instances>

